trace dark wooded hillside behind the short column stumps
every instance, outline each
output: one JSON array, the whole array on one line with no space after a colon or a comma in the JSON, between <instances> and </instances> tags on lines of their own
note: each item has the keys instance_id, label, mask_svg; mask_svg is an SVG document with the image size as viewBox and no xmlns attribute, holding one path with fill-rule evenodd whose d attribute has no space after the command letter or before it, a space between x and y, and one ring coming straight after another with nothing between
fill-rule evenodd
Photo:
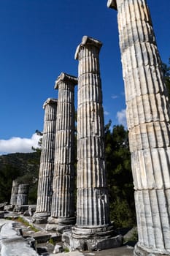
<instances>
[{"instance_id":1,"label":"dark wooded hillside behind the short column stumps","mask_svg":"<svg viewBox=\"0 0 170 256\"><path fill-rule=\"evenodd\" d=\"M30 184L29 203L36 203L40 152L0 156L0 203L10 200L12 180Z\"/></svg>"}]
</instances>

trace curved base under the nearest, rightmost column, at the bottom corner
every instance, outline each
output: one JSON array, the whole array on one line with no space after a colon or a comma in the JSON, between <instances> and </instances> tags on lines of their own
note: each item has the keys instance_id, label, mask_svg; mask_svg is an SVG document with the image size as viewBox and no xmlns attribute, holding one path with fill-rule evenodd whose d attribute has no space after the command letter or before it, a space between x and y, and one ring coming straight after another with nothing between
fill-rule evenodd
<instances>
[{"instance_id":1,"label":"curved base under the nearest, rightmost column, at the bottom corner","mask_svg":"<svg viewBox=\"0 0 170 256\"><path fill-rule=\"evenodd\" d=\"M167 256L170 255L170 250L157 250L155 248L147 248L141 246L139 242L134 247L134 256Z\"/></svg>"}]
</instances>

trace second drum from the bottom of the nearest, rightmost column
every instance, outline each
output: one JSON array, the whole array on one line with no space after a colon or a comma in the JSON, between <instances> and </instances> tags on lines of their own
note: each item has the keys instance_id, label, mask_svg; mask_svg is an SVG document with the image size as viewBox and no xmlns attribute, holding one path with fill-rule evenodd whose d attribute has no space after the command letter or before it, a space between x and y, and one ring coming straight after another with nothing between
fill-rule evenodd
<instances>
[{"instance_id":1,"label":"second drum from the bottom of the nearest, rightmost column","mask_svg":"<svg viewBox=\"0 0 170 256\"><path fill-rule=\"evenodd\" d=\"M170 148L147 148L131 153L135 189L169 189Z\"/></svg>"}]
</instances>

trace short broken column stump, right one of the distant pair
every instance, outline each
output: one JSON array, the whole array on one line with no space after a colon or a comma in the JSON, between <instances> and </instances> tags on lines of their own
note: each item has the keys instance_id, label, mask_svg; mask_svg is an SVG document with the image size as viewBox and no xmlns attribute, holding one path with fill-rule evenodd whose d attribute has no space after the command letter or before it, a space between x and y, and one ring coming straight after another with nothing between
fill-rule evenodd
<instances>
[{"instance_id":1,"label":"short broken column stump, right one of the distant pair","mask_svg":"<svg viewBox=\"0 0 170 256\"><path fill-rule=\"evenodd\" d=\"M20 184L18 186L17 206L28 204L28 184Z\"/></svg>"}]
</instances>

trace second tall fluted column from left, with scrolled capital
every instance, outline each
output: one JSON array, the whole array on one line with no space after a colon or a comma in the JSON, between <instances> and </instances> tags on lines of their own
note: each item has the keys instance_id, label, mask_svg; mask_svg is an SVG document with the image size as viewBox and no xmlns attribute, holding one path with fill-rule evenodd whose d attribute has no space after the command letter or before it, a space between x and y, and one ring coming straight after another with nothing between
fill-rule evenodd
<instances>
[{"instance_id":1,"label":"second tall fluted column from left, with scrolled capital","mask_svg":"<svg viewBox=\"0 0 170 256\"><path fill-rule=\"evenodd\" d=\"M51 217L47 230L63 230L74 217L74 86L77 78L61 73L55 82L58 110Z\"/></svg>"}]
</instances>

